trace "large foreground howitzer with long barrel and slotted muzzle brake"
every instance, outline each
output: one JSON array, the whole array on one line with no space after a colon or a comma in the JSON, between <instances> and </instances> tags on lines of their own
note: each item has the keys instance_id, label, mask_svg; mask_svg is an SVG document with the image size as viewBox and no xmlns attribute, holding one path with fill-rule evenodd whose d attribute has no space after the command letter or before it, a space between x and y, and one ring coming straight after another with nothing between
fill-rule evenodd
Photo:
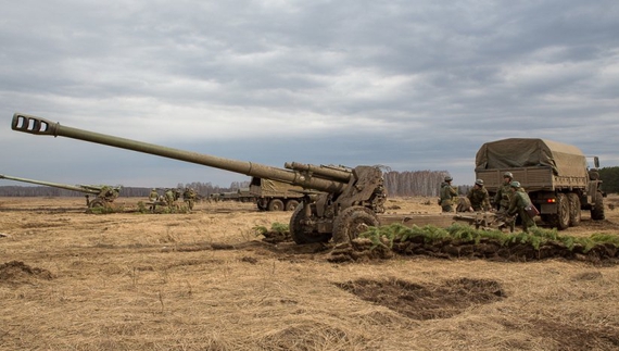
<instances>
[{"instance_id":1,"label":"large foreground howitzer with long barrel and slotted muzzle brake","mask_svg":"<svg viewBox=\"0 0 619 351\"><path fill-rule=\"evenodd\" d=\"M354 168L287 163L278 168L253 162L224 159L148 142L61 126L47 120L15 113L13 130L62 136L230 171L253 177L279 180L307 189L290 218L290 234L296 243L349 241L368 226L378 226L384 212L386 192L378 166Z\"/></svg>"}]
</instances>

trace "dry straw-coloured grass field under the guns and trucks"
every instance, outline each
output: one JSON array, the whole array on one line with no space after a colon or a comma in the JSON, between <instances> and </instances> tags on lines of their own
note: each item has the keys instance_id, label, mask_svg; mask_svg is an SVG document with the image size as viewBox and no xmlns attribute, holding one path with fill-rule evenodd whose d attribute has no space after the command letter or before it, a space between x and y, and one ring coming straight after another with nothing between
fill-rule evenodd
<instances>
[{"instance_id":1,"label":"dry straw-coloured grass field under the guns and trucks","mask_svg":"<svg viewBox=\"0 0 619 351\"><path fill-rule=\"evenodd\" d=\"M93 215L81 198L0 198L0 350L619 349L615 261L333 263L330 246L255 235L290 213L140 214L139 200ZM561 234L619 236L616 205Z\"/></svg>"}]
</instances>

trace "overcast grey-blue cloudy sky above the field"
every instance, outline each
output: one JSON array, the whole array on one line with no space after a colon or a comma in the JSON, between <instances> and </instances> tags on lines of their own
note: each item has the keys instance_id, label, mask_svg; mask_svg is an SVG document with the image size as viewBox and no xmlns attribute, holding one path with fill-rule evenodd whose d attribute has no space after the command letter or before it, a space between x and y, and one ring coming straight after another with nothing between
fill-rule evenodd
<instances>
[{"instance_id":1,"label":"overcast grey-blue cloudy sky above the field","mask_svg":"<svg viewBox=\"0 0 619 351\"><path fill-rule=\"evenodd\" d=\"M446 171L510 137L619 165L619 1L0 0L1 174L244 175L11 130L14 112L241 161ZM0 185L14 185L2 180ZM25 185L25 184L20 184Z\"/></svg>"}]
</instances>

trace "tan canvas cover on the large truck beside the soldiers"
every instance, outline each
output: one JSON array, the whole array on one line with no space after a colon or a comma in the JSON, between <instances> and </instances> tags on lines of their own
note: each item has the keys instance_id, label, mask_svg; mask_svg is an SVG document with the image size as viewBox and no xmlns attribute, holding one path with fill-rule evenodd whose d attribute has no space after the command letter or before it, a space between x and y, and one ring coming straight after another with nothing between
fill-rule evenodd
<instances>
[{"instance_id":1,"label":"tan canvas cover on the large truck beside the soldiers","mask_svg":"<svg viewBox=\"0 0 619 351\"><path fill-rule=\"evenodd\" d=\"M551 167L561 177L589 177L579 148L546 139L510 138L487 142L476 155L476 171Z\"/></svg>"}]
</instances>

